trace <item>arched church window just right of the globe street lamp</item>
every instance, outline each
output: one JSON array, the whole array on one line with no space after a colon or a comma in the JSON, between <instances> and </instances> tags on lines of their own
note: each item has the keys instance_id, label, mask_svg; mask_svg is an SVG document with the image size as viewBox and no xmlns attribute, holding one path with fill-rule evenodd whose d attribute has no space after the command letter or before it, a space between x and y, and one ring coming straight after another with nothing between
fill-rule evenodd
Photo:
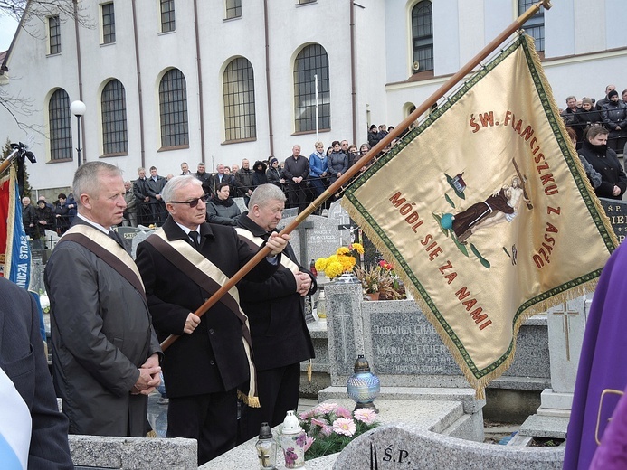
<instances>
[{"instance_id":1,"label":"arched church window just right of the globe street lamp","mask_svg":"<svg viewBox=\"0 0 627 470\"><path fill-rule=\"evenodd\" d=\"M127 154L127 99L124 85L109 80L102 89L102 150L104 155Z\"/></svg>"}]
</instances>

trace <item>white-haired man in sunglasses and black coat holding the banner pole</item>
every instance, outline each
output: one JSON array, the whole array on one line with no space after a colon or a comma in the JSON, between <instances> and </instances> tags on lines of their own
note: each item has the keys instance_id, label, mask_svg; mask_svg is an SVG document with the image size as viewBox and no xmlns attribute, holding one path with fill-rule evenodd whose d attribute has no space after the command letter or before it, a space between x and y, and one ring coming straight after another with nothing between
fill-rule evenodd
<instances>
[{"instance_id":1,"label":"white-haired man in sunglasses and black coat holding the banner pole","mask_svg":"<svg viewBox=\"0 0 627 470\"><path fill-rule=\"evenodd\" d=\"M192 312L204 304L228 277L256 253L231 227L205 222L202 183L176 176L164 188L169 217L138 246L137 263L146 286L148 305L160 340L181 337L165 352L167 437L198 441L198 465L235 446L237 388L249 380L250 392L240 396L258 401L250 353L248 319L237 289L199 318ZM278 268L290 237L273 236L271 258L261 261L247 278L262 281Z\"/></svg>"}]
</instances>

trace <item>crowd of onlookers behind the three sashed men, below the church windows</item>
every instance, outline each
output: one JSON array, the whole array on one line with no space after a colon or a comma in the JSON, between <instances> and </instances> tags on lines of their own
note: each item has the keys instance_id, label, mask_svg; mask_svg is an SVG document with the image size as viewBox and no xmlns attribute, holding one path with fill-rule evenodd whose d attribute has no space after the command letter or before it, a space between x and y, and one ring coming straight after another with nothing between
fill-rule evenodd
<instances>
[{"instance_id":1,"label":"crowd of onlookers behind the three sashed men, below the church windows","mask_svg":"<svg viewBox=\"0 0 627 470\"><path fill-rule=\"evenodd\" d=\"M241 211L233 198L243 198L248 207L252 192L266 183L279 187L285 194L286 207L296 207L300 212L387 135L385 125L373 126L368 132L368 143L359 147L349 145L347 140L335 140L325 151L324 144L316 142L307 157L301 155L302 149L296 145L283 162L271 156L251 166L250 160L244 158L241 165L217 164L213 174L206 171L204 162L197 164L195 173L183 162L181 175L194 175L202 183L207 199L207 221L212 223L236 225ZM173 174L159 175L155 166L150 167L149 175L145 168L138 168L138 178L125 182L125 224L133 227L163 225L167 212L161 192L173 177Z\"/></svg>"}]
</instances>

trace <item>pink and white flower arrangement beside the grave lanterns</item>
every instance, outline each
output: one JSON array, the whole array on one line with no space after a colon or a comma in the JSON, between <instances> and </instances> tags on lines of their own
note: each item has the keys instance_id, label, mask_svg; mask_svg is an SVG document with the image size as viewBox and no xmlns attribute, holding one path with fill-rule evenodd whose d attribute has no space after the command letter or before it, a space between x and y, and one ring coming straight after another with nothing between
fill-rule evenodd
<instances>
[{"instance_id":1,"label":"pink and white flower arrangement beside the grave lanterns","mask_svg":"<svg viewBox=\"0 0 627 470\"><path fill-rule=\"evenodd\" d=\"M300 413L300 426L307 433L305 460L341 451L355 437L376 428L376 416L372 409L350 411L337 403L320 403Z\"/></svg>"}]
</instances>

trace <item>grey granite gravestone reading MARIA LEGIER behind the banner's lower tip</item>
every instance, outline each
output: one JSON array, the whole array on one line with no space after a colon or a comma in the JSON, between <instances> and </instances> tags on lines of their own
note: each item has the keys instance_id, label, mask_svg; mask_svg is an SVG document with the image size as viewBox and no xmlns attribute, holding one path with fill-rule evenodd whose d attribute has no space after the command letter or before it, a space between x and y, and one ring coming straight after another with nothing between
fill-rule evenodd
<instances>
[{"instance_id":1,"label":"grey granite gravestone reading MARIA LEGIER behind the banner's lower tip","mask_svg":"<svg viewBox=\"0 0 627 470\"><path fill-rule=\"evenodd\" d=\"M359 285L330 283L325 291L332 386L346 385L357 355L365 354L387 386L469 387L413 300L362 302ZM527 390L544 390L550 384L545 315L520 327L514 362L491 386L521 380Z\"/></svg>"}]
</instances>

